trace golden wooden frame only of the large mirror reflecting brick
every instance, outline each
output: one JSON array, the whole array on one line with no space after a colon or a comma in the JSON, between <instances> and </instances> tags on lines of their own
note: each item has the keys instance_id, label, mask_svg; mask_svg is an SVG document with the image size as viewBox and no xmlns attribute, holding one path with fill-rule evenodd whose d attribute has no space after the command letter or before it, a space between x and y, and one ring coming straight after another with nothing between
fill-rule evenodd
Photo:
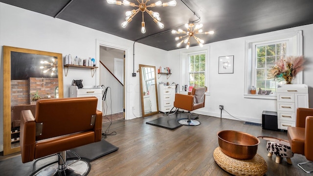
<instances>
[{"instance_id":1,"label":"golden wooden frame only of the large mirror reflecting brick","mask_svg":"<svg viewBox=\"0 0 313 176\"><path fill-rule=\"evenodd\" d=\"M60 53L3 46L3 155L20 152L11 147L11 52L52 56L58 59L59 98L63 98L63 58Z\"/></svg>"}]
</instances>

